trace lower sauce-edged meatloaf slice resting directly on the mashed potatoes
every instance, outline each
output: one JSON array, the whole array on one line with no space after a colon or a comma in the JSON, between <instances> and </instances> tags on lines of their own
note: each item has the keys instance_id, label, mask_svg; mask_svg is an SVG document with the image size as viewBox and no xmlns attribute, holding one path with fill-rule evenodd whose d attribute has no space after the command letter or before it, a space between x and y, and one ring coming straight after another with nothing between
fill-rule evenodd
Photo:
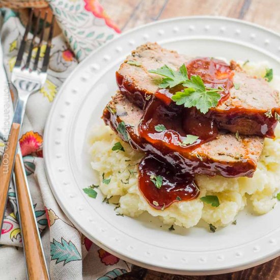
<instances>
[{"instance_id":1,"label":"lower sauce-edged meatloaf slice resting directly on the mashed potatoes","mask_svg":"<svg viewBox=\"0 0 280 280\"><path fill-rule=\"evenodd\" d=\"M135 149L152 153L159 159L169 162L177 172L192 172L207 176L252 177L263 150L263 138L259 136L241 136L240 141L235 134L220 132L216 139L202 144L188 155L172 150L161 150L144 141L139 136L138 124L143 110L118 92L103 111L103 120L119 136L128 141ZM118 129L124 122L126 133Z\"/></svg>"}]
</instances>

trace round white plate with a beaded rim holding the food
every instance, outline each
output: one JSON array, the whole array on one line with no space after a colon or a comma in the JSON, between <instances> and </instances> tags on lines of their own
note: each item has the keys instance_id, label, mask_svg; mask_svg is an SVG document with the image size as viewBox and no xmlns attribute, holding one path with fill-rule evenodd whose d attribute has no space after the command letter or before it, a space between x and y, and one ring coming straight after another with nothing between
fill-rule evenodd
<instances>
[{"instance_id":1,"label":"round white plate with a beaded rim holding the food","mask_svg":"<svg viewBox=\"0 0 280 280\"><path fill-rule=\"evenodd\" d=\"M170 232L148 214L116 216L102 195L82 188L94 182L88 130L117 86L115 71L136 46L156 41L193 56L268 61L280 73L280 37L260 26L220 17L158 21L125 33L85 59L64 82L44 134L44 158L53 194L74 225L110 253L143 267L177 274L245 269L280 255L280 207L266 215L243 211L236 226L209 233L204 227ZM153 221L153 222L151 222Z\"/></svg>"}]
</instances>

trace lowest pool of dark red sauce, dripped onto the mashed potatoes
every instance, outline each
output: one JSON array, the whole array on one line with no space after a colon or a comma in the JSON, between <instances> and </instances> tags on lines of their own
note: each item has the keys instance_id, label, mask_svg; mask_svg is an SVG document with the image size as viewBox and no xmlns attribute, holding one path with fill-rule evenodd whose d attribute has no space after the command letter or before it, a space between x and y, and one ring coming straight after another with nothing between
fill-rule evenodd
<instances>
[{"instance_id":1,"label":"lowest pool of dark red sauce, dripped onto the mashed potatoes","mask_svg":"<svg viewBox=\"0 0 280 280\"><path fill-rule=\"evenodd\" d=\"M150 206L157 210L163 210L174 202L194 199L199 195L193 175L185 174L179 177L169 166L153 156L147 156L141 161L138 175L139 190ZM153 175L162 177L160 188L151 181Z\"/></svg>"}]
</instances>

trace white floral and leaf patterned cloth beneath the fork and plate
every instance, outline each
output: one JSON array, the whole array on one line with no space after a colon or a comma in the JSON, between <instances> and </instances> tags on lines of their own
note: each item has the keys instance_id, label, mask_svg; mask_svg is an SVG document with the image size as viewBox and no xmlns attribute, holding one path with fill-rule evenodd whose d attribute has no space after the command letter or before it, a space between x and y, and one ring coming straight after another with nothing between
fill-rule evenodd
<instances>
[{"instance_id":1,"label":"white floral and leaf patterned cloth beneath the fork and plate","mask_svg":"<svg viewBox=\"0 0 280 280\"><path fill-rule=\"evenodd\" d=\"M49 4L63 34L52 40L47 81L29 99L19 141L37 223L51 279L113 279L130 271L131 266L93 244L62 212L46 179L42 135L48 111L63 81L79 61L120 31L98 1L49 0ZM4 64L10 78L25 27L16 12L1 9L1 14ZM32 35L29 36L31 40ZM43 45L41 57L45 49ZM36 50L35 47L34 54ZM0 279L26 279L12 184L8 201L0 239Z\"/></svg>"}]
</instances>

